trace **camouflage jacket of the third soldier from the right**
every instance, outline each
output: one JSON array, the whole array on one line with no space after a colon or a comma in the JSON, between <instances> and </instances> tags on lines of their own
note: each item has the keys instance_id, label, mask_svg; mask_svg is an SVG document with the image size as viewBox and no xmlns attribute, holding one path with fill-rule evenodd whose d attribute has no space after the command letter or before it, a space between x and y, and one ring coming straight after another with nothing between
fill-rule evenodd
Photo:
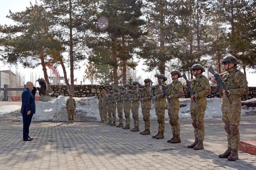
<instances>
[{"instance_id":1,"label":"camouflage jacket of the third soldier from the right","mask_svg":"<svg viewBox=\"0 0 256 170\"><path fill-rule=\"evenodd\" d=\"M172 81L166 86L167 94L171 99L171 103L167 102L167 109L180 109L179 98L183 96L182 83L180 81Z\"/></svg>"}]
</instances>

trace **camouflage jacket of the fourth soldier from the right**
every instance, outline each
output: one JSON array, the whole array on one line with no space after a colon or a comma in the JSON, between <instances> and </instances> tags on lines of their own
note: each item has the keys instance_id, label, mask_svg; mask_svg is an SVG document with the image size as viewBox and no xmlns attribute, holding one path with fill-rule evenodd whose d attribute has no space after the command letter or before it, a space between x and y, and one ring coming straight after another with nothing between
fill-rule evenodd
<instances>
[{"instance_id":1,"label":"camouflage jacket of the fourth soldier from the right","mask_svg":"<svg viewBox=\"0 0 256 170\"><path fill-rule=\"evenodd\" d=\"M163 81L164 86L166 86L165 81ZM164 92L160 91L161 85L157 84L154 86L154 99L155 99L155 108L164 107L166 108L166 97L163 98Z\"/></svg>"}]
</instances>

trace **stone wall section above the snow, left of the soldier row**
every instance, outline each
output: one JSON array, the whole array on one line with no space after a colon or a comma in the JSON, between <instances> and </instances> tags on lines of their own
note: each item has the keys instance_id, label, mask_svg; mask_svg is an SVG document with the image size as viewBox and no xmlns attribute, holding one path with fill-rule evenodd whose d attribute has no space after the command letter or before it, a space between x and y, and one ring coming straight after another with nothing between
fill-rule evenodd
<instances>
[{"instance_id":1,"label":"stone wall section above the snow, left of the soldier row","mask_svg":"<svg viewBox=\"0 0 256 170\"><path fill-rule=\"evenodd\" d=\"M69 96L66 85L51 85L51 89L53 91L52 97ZM74 97L98 96L102 89L110 90L112 87L108 85L75 85Z\"/></svg>"}]
</instances>

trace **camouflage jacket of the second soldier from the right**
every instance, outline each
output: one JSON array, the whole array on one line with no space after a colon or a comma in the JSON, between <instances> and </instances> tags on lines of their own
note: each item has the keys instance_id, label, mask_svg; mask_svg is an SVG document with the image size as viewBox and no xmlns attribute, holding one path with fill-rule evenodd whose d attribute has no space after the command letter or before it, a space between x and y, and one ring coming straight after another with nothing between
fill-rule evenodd
<instances>
[{"instance_id":1,"label":"camouflage jacket of the second soldier from the right","mask_svg":"<svg viewBox=\"0 0 256 170\"><path fill-rule=\"evenodd\" d=\"M196 96L196 105L193 100L190 103L190 110L205 110L207 101L206 96L211 93L209 80L203 74L197 74L194 79L190 80L190 85Z\"/></svg>"}]
</instances>

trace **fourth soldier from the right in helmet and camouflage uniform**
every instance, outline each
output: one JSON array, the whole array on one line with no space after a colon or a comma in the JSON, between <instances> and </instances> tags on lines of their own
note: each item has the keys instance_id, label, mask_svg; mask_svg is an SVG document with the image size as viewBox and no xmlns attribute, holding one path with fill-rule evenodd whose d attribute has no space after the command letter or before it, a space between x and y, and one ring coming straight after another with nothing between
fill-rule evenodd
<instances>
[{"instance_id":1,"label":"fourth soldier from the right in helmet and camouflage uniform","mask_svg":"<svg viewBox=\"0 0 256 170\"><path fill-rule=\"evenodd\" d=\"M159 74L157 76L158 79L161 79L162 83L166 86L165 81L167 78L164 74ZM156 110L156 117L158 122L158 132L156 135L152 136L152 138L156 139L163 139L164 138L164 115L165 115L165 108L166 108L166 99L163 98L164 93L163 90L160 90L161 85L157 84L154 87L154 100L155 100L155 110Z\"/></svg>"}]
</instances>

